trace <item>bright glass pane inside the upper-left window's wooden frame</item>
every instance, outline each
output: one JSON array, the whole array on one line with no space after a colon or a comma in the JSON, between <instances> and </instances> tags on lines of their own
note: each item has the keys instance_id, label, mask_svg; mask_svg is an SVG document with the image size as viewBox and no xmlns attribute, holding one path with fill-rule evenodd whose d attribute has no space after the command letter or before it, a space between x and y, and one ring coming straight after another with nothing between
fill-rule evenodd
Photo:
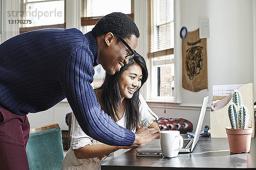
<instances>
[{"instance_id":1,"label":"bright glass pane inside the upper-left window's wooden frame","mask_svg":"<svg viewBox=\"0 0 256 170\"><path fill-rule=\"evenodd\" d=\"M24 20L31 20L32 23L23 24L23 27L63 24L65 22L64 8L64 0L26 3Z\"/></svg>"}]
</instances>

